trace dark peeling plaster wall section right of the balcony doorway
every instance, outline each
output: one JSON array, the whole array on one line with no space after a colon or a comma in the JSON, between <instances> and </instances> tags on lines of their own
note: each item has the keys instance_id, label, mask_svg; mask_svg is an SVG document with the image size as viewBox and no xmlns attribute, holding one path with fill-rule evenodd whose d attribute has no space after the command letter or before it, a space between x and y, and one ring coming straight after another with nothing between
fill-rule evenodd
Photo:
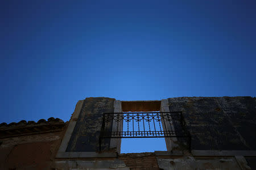
<instances>
[{"instance_id":1,"label":"dark peeling plaster wall section right of the balcony doorway","mask_svg":"<svg viewBox=\"0 0 256 170\"><path fill-rule=\"evenodd\" d=\"M192 150L256 150L255 97L175 97L168 102L171 112L183 112Z\"/></svg>"}]
</instances>

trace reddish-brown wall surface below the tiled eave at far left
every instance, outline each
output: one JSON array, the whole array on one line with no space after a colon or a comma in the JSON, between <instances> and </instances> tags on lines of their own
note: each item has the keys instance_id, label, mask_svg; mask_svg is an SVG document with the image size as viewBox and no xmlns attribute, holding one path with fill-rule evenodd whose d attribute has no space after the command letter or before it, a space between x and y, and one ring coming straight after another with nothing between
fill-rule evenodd
<instances>
[{"instance_id":1,"label":"reddish-brown wall surface below the tiled eave at far left","mask_svg":"<svg viewBox=\"0 0 256 170\"><path fill-rule=\"evenodd\" d=\"M1 139L0 169L51 169L64 131Z\"/></svg>"}]
</instances>

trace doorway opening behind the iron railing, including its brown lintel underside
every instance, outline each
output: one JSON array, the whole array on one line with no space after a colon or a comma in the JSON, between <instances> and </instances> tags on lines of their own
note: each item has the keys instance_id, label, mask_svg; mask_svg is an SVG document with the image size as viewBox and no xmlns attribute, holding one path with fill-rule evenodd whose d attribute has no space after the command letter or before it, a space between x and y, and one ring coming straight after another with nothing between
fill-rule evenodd
<instances>
[{"instance_id":1,"label":"doorway opening behind the iron railing, including its brown lintel underside","mask_svg":"<svg viewBox=\"0 0 256 170\"><path fill-rule=\"evenodd\" d=\"M126 118L127 116L132 116L135 118L135 120L123 121L122 129L135 131L134 135L144 133L141 134L141 136L144 135L144 137L122 138L121 154L167 151L166 141L163 137L164 134L162 134L162 137L160 137L161 134L154 134L155 131L163 130L162 122L154 121L155 118L159 118L160 105L161 101L122 101L123 116ZM151 113L147 114L146 112ZM159 137L154 137L156 135Z\"/></svg>"}]
</instances>

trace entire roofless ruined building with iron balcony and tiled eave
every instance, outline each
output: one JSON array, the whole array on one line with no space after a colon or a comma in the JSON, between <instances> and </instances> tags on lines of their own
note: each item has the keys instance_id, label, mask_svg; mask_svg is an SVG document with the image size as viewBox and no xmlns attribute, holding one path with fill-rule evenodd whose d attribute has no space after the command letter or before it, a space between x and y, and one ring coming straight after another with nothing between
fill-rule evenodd
<instances>
[{"instance_id":1,"label":"entire roofless ruined building with iron balcony and tiled eave","mask_svg":"<svg viewBox=\"0 0 256 170\"><path fill-rule=\"evenodd\" d=\"M120 154L142 137L167 151ZM89 97L68 122L0 124L0 169L256 169L256 99Z\"/></svg>"}]
</instances>

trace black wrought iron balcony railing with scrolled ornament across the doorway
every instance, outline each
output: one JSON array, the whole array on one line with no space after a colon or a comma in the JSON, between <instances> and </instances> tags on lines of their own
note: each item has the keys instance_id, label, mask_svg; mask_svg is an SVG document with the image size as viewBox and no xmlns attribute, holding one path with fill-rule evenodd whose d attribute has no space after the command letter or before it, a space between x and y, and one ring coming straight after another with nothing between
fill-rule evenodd
<instances>
[{"instance_id":1,"label":"black wrought iron balcony railing with scrolled ornament across the doorway","mask_svg":"<svg viewBox=\"0 0 256 170\"><path fill-rule=\"evenodd\" d=\"M190 150L191 137L181 112L104 113L103 138L179 138Z\"/></svg>"}]
</instances>

